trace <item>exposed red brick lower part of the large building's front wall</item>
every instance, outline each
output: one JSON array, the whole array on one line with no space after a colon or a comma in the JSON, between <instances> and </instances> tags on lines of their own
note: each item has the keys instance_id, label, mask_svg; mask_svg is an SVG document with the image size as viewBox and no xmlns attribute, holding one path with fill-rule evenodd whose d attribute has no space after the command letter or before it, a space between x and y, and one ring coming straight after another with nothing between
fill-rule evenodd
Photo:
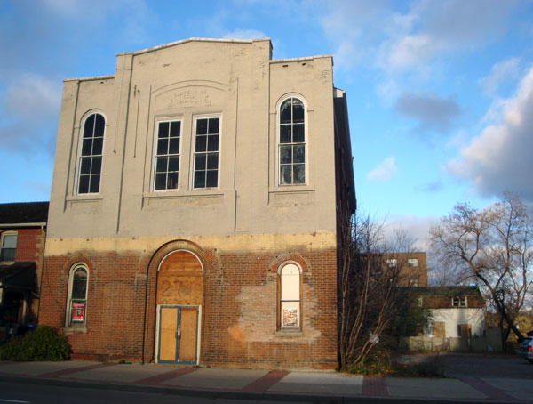
<instances>
[{"instance_id":1,"label":"exposed red brick lower part of the large building's front wall","mask_svg":"<svg viewBox=\"0 0 533 404\"><path fill-rule=\"evenodd\" d=\"M68 271L84 262L90 271L86 329L67 331L73 352L94 359L143 360L144 354L145 361L154 360L157 267L180 248L195 253L203 264L202 364L335 368L335 249L239 253L176 241L145 254L50 256L44 265L40 323L64 327ZM277 270L287 260L303 270L299 335L276 331Z\"/></svg>"}]
</instances>

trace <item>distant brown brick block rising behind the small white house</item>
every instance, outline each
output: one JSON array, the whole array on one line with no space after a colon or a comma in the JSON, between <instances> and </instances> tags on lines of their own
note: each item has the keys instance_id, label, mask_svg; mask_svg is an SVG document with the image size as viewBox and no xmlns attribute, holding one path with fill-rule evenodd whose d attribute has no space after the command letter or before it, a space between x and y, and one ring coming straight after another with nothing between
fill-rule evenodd
<instances>
[{"instance_id":1,"label":"distant brown brick block rising behind the small white house","mask_svg":"<svg viewBox=\"0 0 533 404\"><path fill-rule=\"evenodd\" d=\"M398 285L400 287L426 287L426 253L395 253L386 255L386 265L400 268Z\"/></svg>"}]
</instances>

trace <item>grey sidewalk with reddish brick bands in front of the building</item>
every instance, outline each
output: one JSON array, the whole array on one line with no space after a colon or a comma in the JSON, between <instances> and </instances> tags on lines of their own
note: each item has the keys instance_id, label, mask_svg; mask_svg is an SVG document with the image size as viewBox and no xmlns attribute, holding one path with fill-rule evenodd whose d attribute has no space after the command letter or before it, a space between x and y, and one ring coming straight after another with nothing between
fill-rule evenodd
<instances>
[{"instance_id":1,"label":"grey sidewalk with reddish brick bands in front of the building","mask_svg":"<svg viewBox=\"0 0 533 404\"><path fill-rule=\"evenodd\" d=\"M0 361L0 376L18 383L56 384L200 397L328 402L490 401L533 403L531 379L401 378L334 372L196 368L88 361Z\"/></svg>"}]
</instances>

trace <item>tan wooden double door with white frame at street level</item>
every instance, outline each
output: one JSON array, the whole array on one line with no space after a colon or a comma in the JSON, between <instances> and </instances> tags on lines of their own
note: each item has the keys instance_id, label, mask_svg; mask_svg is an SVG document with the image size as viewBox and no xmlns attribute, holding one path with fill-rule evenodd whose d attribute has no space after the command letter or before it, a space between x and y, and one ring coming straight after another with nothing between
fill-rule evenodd
<instances>
[{"instance_id":1,"label":"tan wooden double door with white frame at street level","mask_svg":"<svg viewBox=\"0 0 533 404\"><path fill-rule=\"evenodd\" d=\"M199 319L199 306L159 306L158 362L196 363Z\"/></svg>"}]
</instances>

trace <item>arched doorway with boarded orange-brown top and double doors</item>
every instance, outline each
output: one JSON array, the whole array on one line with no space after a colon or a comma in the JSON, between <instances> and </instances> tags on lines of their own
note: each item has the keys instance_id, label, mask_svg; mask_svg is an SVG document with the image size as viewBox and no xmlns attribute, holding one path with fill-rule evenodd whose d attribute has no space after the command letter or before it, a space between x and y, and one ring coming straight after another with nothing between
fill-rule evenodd
<instances>
[{"instance_id":1,"label":"arched doorway with boarded orange-brown top and double doors","mask_svg":"<svg viewBox=\"0 0 533 404\"><path fill-rule=\"evenodd\" d=\"M197 363L200 356L203 267L185 250L166 255L157 271L156 360Z\"/></svg>"}]
</instances>

